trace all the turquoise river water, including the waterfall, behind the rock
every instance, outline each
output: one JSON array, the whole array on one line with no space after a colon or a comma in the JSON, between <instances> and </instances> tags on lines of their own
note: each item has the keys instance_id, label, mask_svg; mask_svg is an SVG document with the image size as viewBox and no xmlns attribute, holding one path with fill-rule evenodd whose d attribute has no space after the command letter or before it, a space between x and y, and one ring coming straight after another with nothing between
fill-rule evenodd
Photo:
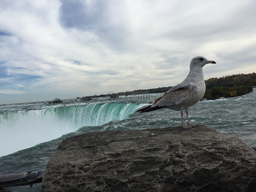
<instances>
[{"instance_id":1,"label":"all the turquoise river water, including the waterfall, behind the rock","mask_svg":"<svg viewBox=\"0 0 256 192\"><path fill-rule=\"evenodd\" d=\"M214 127L238 136L248 145L256 145L255 91L240 97L200 101L189 108L190 122ZM38 102L0 106L0 134L4 135L0 156L5 155L0 157L0 175L45 169L58 144L73 135L180 126L179 111L135 112L161 95L151 94L150 99L101 98L55 105ZM40 184L9 189L41 191Z\"/></svg>"}]
</instances>

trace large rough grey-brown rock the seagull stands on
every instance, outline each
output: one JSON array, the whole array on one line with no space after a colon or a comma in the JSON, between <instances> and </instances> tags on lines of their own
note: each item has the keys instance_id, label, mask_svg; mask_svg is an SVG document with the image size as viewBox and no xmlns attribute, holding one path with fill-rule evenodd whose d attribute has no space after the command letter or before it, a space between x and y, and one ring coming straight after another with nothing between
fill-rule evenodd
<instances>
[{"instance_id":1,"label":"large rough grey-brown rock the seagull stands on","mask_svg":"<svg viewBox=\"0 0 256 192\"><path fill-rule=\"evenodd\" d=\"M42 191L256 191L256 152L213 128L86 133L65 139Z\"/></svg>"}]
</instances>

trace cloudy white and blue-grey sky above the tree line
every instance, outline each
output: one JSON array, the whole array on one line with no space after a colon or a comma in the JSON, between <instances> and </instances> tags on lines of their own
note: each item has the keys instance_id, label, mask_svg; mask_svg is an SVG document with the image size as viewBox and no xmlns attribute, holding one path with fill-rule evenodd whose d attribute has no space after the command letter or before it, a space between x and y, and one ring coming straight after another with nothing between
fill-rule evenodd
<instances>
[{"instance_id":1,"label":"cloudy white and blue-grey sky above the tree line","mask_svg":"<svg viewBox=\"0 0 256 192\"><path fill-rule=\"evenodd\" d=\"M256 1L1 0L0 104L256 72Z\"/></svg>"}]
</instances>

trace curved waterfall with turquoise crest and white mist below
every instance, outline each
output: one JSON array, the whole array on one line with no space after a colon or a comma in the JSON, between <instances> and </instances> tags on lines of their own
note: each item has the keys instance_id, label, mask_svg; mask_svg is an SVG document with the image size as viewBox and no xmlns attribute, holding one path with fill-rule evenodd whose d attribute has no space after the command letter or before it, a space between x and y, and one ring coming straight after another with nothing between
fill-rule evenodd
<instances>
[{"instance_id":1,"label":"curved waterfall with turquoise crest and white mist below","mask_svg":"<svg viewBox=\"0 0 256 192\"><path fill-rule=\"evenodd\" d=\"M13 107L13 106L12 106ZM17 106L0 111L0 157L61 137L84 126L100 126L127 118L139 108L134 103Z\"/></svg>"}]
</instances>

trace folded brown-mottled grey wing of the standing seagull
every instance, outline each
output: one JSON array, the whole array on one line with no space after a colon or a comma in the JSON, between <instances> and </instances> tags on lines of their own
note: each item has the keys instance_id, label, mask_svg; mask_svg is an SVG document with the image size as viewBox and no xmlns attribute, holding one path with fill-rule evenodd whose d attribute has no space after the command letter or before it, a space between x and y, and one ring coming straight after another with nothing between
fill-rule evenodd
<instances>
[{"instance_id":1,"label":"folded brown-mottled grey wing of the standing seagull","mask_svg":"<svg viewBox=\"0 0 256 192\"><path fill-rule=\"evenodd\" d=\"M156 98L151 107L169 107L175 105L177 101L180 101L186 95L192 92L195 87L192 82L179 83L167 91L163 96Z\"/></svg>"}]
</instances>

